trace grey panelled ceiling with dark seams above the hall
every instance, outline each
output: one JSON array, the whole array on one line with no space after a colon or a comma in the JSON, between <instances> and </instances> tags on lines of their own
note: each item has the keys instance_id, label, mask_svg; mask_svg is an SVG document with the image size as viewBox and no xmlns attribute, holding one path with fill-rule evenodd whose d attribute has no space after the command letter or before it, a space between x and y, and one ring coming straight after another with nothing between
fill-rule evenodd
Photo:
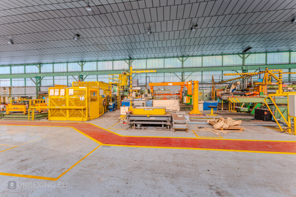
<instances>
[{"instance_id":1,"label":"grey panelled ceiling with dark seams above the hall","mask_svg":"<svg viewBox=\"0 0 296 197\"><path fill-rule=\"evenodd\" d=\"M295 50L295 13L295 0L0 0L0 65Z\"/></svg>"}]
</instances>

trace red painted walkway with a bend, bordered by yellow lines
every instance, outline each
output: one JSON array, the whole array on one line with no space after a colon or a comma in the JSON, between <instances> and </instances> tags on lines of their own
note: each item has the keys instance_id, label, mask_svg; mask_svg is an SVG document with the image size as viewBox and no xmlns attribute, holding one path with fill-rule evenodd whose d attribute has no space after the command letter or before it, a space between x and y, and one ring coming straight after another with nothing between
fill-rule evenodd
<instances>
[{"instance_id":1,"label":"red painted walkway with a bend, bordered by yellow lines","mask_svg":"<svg viewBox=\"0 0 296 197\"><path fill-rule=\"evenodd\" d=\"M108 145L121 146L158 146L176 148L223 149L237 151L296 153L296 142L286 141L247 141L221 139L186 139L166 137L128 137L119 136L89 123L58 122L19 122L1 121L0 125L28 126L72 126L86 135Z\"/></svg>"}]
</instances>

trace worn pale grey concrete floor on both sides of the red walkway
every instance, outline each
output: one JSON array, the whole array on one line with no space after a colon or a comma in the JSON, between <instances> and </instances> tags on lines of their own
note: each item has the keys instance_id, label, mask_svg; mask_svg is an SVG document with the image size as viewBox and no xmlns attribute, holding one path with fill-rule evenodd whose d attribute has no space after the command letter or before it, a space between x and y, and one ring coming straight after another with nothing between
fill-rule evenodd
<instances>
[{"instance_id":1,"label":"worn pale grey concrete floor on both sides of the red walkway","mask_svg":"<svg viewBox=\"0 0 296 197\"><path fill-rule=\"evenodd\" d=\"M127 129L118 116L106 113L89 123L126 136L217 137L196 131L209 126L205 120L190 121L197 124L186 133ZM250 126L258 122L243 124L243 133L221 138L296 141ZM1 196L296 196L293 169L296 154L100 146L70 127L0 127Z\"/></svg>"}]
</instances>

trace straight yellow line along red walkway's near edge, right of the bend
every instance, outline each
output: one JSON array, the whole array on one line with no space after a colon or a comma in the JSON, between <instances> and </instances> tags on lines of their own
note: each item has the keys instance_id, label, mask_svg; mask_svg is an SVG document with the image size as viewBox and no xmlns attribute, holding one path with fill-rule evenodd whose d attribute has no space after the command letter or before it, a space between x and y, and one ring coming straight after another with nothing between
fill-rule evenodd
<instances>
[{"instance_id":1,"label":"straight yellow line along red walkway's near edge, right of the bend","mask_svg":"<svg viewBox=\"0 0 296 197\"><path fill-rule=\"evenodd\" d=\"M203 148L165 147L165 146L130 146L130 145L118 145L118 144L104 144L104 145L105 146L136 147L136 148L157 148L157 149L189 149L189 150L211 150L211 151L230 151L230 152L255 152L255 153L271 153L271 154L296 154L294 152L247 151L247 150L232 150L232 149L203 149Z\"/></svg>"}]
</instances>

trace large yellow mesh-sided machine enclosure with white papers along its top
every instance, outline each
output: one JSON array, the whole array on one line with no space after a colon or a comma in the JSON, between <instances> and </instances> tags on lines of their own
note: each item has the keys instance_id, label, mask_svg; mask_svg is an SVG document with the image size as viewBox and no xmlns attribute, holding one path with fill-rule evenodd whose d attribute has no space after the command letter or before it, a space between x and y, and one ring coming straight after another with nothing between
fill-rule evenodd
<instances>
[{"instance_id":1,"label":"large yellow mesh-sided machine enclosure with white papers along its top","mask_svg":"<svg viewBox=\"0 0 296 197\"><path fill-rule=\"evenodd\" d=\"M73 82L72 85L49 88L49 120L88 121L108 110L110 84L96 81Z\"/></svg>"}]
</instances>

